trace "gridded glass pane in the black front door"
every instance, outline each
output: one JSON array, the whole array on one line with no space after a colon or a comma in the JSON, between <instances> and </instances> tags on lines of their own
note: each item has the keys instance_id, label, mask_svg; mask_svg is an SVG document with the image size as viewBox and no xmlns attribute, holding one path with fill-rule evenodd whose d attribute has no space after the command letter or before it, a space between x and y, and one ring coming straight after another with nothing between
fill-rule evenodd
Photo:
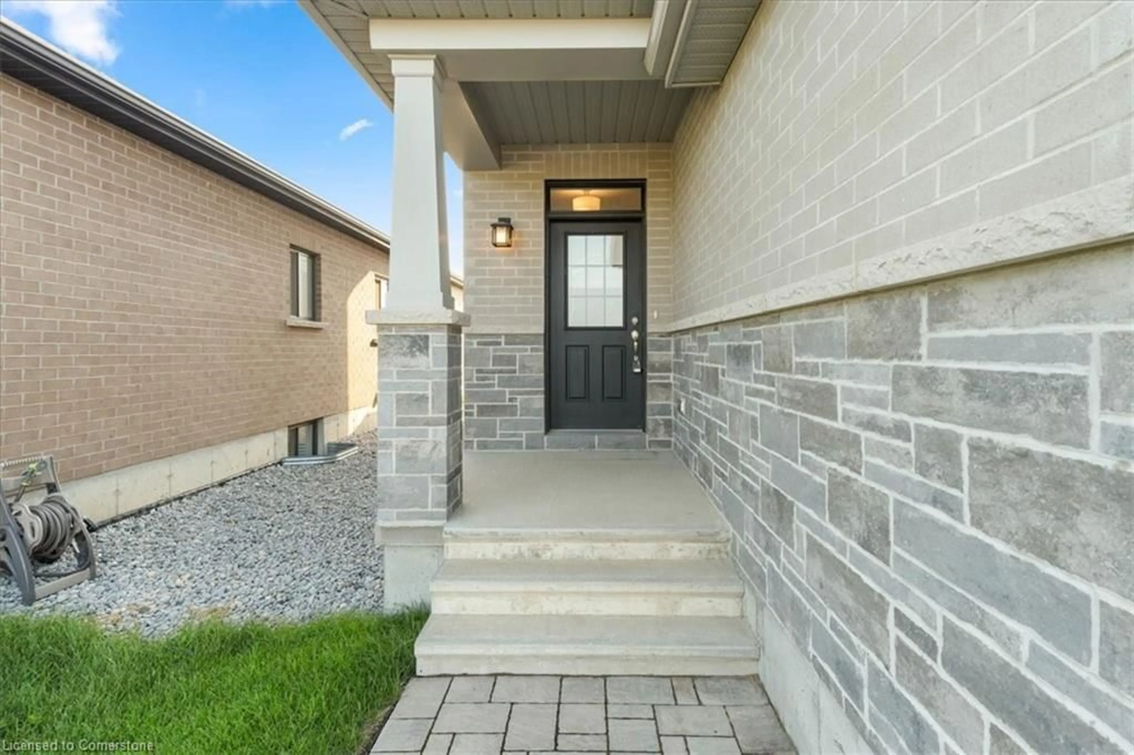
<instances>
[{"instance_id":1,"label":"gridded glass pane in the black front door","mask_svg":"<svg viewBox=\"0 0 1134 755\"><path fill-rule=\"evenodd\" d=\"M623 328L621 235L567 235L567 326Z\"/></svg>"}]
</instances>

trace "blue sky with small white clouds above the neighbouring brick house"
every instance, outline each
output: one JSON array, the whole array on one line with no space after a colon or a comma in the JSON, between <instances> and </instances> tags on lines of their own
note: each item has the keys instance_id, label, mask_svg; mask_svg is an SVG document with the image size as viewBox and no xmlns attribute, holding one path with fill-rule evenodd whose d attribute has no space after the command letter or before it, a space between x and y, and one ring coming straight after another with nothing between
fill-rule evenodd
<instances>
[{"instance_id":1,"label":"blue sky with small white clouds above the neighbouring brick house","mask_svg":"<svg viewBox=\"0 0 1134 755\"><path fill-rule=\"evenodd\" d=\"M392 117L296 3L5 0L0 7L135 92L389 231ZM460 172L448 159L447 168L449 248L459 271Z\"/></svg>"}]
</instances>

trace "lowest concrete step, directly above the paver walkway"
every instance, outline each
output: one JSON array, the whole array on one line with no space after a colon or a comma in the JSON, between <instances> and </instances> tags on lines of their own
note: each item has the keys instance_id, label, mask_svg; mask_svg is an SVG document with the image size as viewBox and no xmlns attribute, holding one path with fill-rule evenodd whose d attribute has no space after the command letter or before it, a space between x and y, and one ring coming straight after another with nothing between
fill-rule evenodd
<instances>
[{"instance_id":1,"label":"lowest concrete step, directly above the paver walkway","mask_svg":"<svg viewBox=\"0 0 1134 755\"><path fill-rule=\"evenodd\" d=\"M414 647L422 676L747 676L756 638L731 617L434 613Z\"/></svg>"}]
</instances>

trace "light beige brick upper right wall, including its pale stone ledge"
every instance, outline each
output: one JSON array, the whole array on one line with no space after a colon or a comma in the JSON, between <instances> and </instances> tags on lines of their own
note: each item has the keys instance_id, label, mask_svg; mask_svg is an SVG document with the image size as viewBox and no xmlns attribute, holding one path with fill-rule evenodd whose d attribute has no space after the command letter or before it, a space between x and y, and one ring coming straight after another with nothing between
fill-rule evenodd
<instances>
[{"instance_id":1,"label":"light beige brick upper right wall, including its pale stone ledge","mask_svg":"<svg viewBox=\"0 0 1134 755\"><path fill-rule=\"evenodd\" d=\"M1134 3L764 0L674 143L675 319L1134 231Z\"/></svg>"}]
</instances>

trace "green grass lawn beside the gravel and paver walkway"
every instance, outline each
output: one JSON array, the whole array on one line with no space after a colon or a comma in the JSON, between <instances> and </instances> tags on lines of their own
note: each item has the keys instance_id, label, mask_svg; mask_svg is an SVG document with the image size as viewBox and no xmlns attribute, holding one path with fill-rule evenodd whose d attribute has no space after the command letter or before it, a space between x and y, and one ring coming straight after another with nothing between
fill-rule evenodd
<instances>
[{"instance_id":1,"label":"green grass lawn beside the gravel and paver walkway","mask_svg":"<svg viewBox=\"0 0 1134 755\"><path fill-rule=\"evenodd\" d=\"M189 626L168 638L0 617L0 743L356 753L414 669L424 612Z\"/></svg>"}]
</instances>

